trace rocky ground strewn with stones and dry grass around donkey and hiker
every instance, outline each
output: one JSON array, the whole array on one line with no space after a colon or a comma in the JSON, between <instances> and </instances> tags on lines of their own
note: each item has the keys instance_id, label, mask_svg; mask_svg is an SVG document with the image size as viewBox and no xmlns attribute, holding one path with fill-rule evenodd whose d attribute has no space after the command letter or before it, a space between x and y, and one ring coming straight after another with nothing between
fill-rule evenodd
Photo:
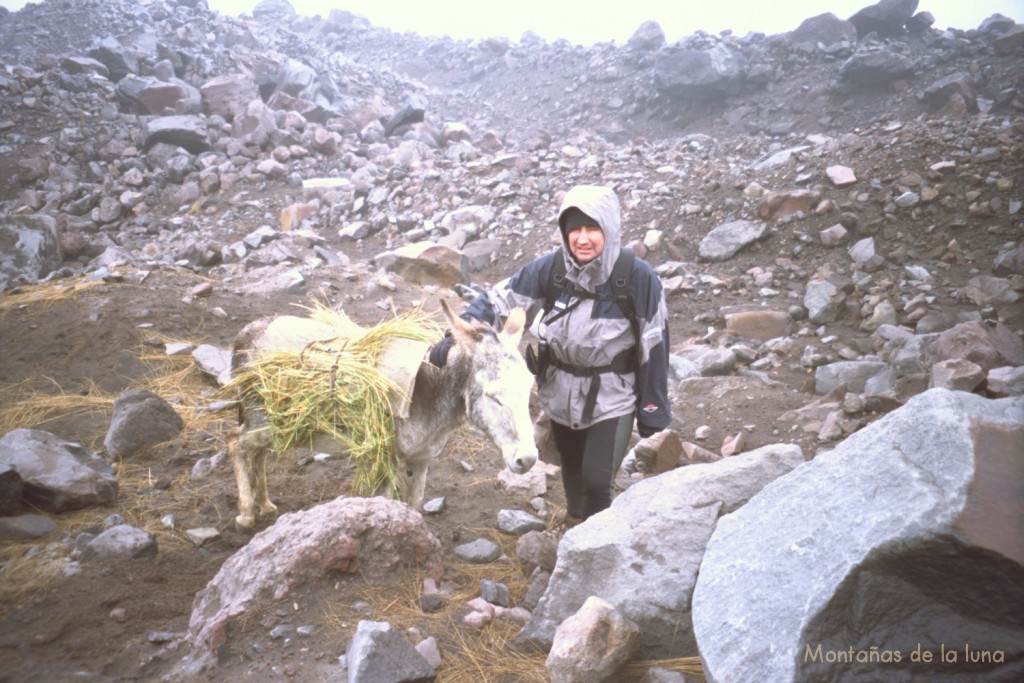
<instances>
[{"instance_id":1,"label":"rocky ground strewn with stones and dry grass around donkey and hiker","mask_svg":"<svg viewBox=\"0 0 1024 683\"><path fill-rule=\"evenodd\" d=\"M627 239L646 245L669 288L677 356L738 354L721 374L673 381L674 429L712 452L743 434L746 449L796 442L812 457L878 417L861 403L829 429L779 421L816 398L816 367L878 354L881 326L925 334L980 321L1020 342L1024 70L1012 20L946 32L924 23L859 43L845 22L812 27L809 38L696 35L678 47L725 49L741 57L744 78L695 94L667 83L656 27L638 28L626 46L428 41L344 14L261 7L229 19L202 1L47 0L0 14L3 221L51 216L62 250L46 284L6 281L3 416L24 415L10 408L40 395L91 408L0 428L39 427L101 450L110 401L139 385L189 416L178 439L117 464L115 504L60 516L47 538L4 542L4 583L16 588L0 603L0 680L159 678L176 656L164 634L185 630L197 591L248 541L231 527L229 468L191 475L222 452L230 416L201 410L216 385L190 358L166 357L168 342L226 346L247 322L313 300L367 324L414 305L438 310L439 299L459 300L453 283L402 276L375 258L436 240L471 254L471 280L485 286L553 246L560 194L578 182L620 194ZM113 85L116 59L102 60L105 75L88 61L105 54L95 51L105 34L132 46L133 73L171 70L163 81L179 88L176 113L194 113L185 85L244 71L282 109L286 95L302 100L303 120L278 117L257 140L208 117L208 146L176 166L168 145L146 137L164 112ZM911 67L858 80L843 71L858 44ZM288 58L315 82L275 92ZM422 121L389 129L411 101L425 102ZM303 188L325 177L346 182L333 194ZM741 219L765 221L766 233L730 257L700 258L713 228ZM873 255L848 251L867 238ZM998 282L972 284L979 276ZM809 319L808 283L823 280L845 298L835 319ZM728 313L750 307L783 313L781 338L727 329ZM904 378L885 405L927 384ZM525 502L497 485L499 460L467 432L433 469L427 496L449 505L427 521L446 552L489 535L514 557L495 518ZM298 469L285 457L271 492L283 511L299 510L344 493L349 476L343 464ZM560 495L552 481L549 517ZM71 561L76 538L111 514L155 532L156 557ZM221 539L195 548L183 530L197 526ZM465 567L452 567L475 595ZM527 584L514 559L495 571ZM438 638L441 680L487 678L463 655L498 649L496 636L458 626L459 600L440 615L417 613L411 590L368 597L353 587L291 611L274 606L234 635L218 677L329 680L353 620L370 617ZM281 625L315 629L271 635ZM544 680L543 659L521 666L508 680Z\"/></svg>"}]
</instances>

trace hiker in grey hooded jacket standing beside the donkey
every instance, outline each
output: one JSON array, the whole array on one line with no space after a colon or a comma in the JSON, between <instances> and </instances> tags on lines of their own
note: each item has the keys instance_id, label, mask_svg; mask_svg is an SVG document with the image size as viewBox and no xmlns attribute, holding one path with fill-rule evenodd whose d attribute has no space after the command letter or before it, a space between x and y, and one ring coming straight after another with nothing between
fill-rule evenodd
<instances>
[{"instance_id":1,"label":"hiker in grey hooded jacket standing beside the donkey","mask_svg":"<svg viewBox=\"0 0 1024 683\"><path fill-rule=\"evenodd\" d=\"M558 213L561 247L520 267L479 294L462 314L500 329L516 306L535 319L538 399L551 420L565 489L566 512L586 519L611 505L615 473L629 447L634 419L641 436L669 426L668 308L662 283L637 258L629 278L634 322L616 303L610 282L622 243L618 198L608 187L569 189ZM543 310L557 259L562 290ZM443 365L445 336L429 360ZM530 359L527 351L527 360ZM537 367L540 366L540 367Z\"/></svg>"}]
</instances>

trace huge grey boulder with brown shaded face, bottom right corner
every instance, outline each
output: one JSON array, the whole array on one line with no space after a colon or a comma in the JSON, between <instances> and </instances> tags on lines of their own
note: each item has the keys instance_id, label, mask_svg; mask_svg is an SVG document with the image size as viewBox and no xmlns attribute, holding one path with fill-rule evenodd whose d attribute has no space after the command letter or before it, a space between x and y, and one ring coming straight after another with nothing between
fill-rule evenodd
<instances>
[{"instance_id":1,"label":"huge grey boulder with brown shaded face, bottom right corner","mask_svg":"<svg viewBox=\"0 0 1024 683\"><path fill-rule=\"evenodd\" d=\"M723 517L708 680L1024 680L1022 453L1024 397L932 389Z\"/></svg>"}]
</instances>

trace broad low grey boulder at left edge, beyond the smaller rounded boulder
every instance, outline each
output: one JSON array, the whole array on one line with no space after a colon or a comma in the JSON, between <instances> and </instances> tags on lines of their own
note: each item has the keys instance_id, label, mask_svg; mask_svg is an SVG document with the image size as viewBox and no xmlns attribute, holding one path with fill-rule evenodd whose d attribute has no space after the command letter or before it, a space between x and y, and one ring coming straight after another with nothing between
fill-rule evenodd
<instances>
[{"instance_id":1,"label":"broad low grey boulder at left edge, beyond the smaller rounded boulder","mask_svg":"<svg viewBox=\"0 0 1024 683\"><path fill-rule=\"evenodd\" d=\"M4 434L0 437L3 465L22 477L25 500L46 512L102 505L118 497L117 476L105 461L49 432L15 429Z\"/></svg>"}]
</instances>

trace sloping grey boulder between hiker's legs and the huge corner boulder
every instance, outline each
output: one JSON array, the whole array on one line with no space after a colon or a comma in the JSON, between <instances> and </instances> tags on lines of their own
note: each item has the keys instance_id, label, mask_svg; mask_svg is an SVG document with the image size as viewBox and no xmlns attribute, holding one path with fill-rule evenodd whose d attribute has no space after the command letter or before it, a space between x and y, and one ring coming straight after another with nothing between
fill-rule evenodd
<instances>
[{"instance_id":1,"label":"sloping grey boulder between hiker's legs and the huge corner boulder","mask_svg":"<svg viewBox=\"0 0 1024 683\"><path fill-rule=\"evenodd\" d=\"M767 445L630 486L562 537L548 589L517 640L549 650L558 626L596 596L640 627L645 656L696 654L690 596L715 524L803 462L797 445Z\"/></svg>"}]
</instances>

